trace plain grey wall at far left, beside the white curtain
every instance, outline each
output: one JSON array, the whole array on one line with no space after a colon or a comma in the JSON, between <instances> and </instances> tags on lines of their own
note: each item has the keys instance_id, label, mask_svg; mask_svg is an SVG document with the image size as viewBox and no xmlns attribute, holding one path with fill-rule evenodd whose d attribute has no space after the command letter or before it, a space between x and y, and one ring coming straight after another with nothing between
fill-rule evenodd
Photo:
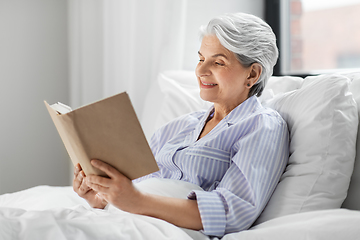
<instances>
[{"instance_id":1,"label":"plain grey wall at far left, beside the white curtain","mask_svg":"<svg viewBox=\"0 0 360 240\"><path fill-rule=\"evenodd\" d=\"M69 160L47 113L69 102L67 1L0 0L0 194L68 185Z\"/></svg>"}]
</instances>

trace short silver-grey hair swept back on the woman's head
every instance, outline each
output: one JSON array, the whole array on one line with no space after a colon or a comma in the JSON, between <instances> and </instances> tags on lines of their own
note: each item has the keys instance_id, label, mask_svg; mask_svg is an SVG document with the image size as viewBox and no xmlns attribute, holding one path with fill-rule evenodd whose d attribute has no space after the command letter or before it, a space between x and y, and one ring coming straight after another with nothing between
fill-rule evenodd
<instances>
[{"instance_id":1,"label":"short silver-grey hair swept back on the woman's head","mask_svg":"<svg viewBox=\"0 0 360 240\"><path fill-rule=\"evenodd\" d=\"M260 97L279 56L276 36L271 27L254 15L225 14L213 18L207 26L200 28L201 39L206 35L216 35L221 45L235 53L244 67L253 63L261 65L261 75L249 92L249 97Z\"/></svg>"}]
</instances>

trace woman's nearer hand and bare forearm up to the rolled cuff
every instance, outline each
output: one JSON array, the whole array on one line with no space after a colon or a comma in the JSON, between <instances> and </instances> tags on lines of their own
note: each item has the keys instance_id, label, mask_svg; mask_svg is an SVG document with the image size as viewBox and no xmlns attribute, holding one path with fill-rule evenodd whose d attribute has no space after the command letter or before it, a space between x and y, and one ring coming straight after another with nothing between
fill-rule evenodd
<instances>
[{"instance_id":1,"label":"woman's nearer hand and bare forearm up to the rolled cuff","mask_svg":"<svg viewBox=\"0 0 360 240\"><path fill-rule=\"evenodd\" d=\"M109 178L89 175L85 180L87 186L100 193L115 207L130 213L163 219L179 227L195 230L203 228L195 200L142 193L133 186L130 179L109 164L99 160L92 160L91 164L105 172Z\"/></svg>"}]
</instances>

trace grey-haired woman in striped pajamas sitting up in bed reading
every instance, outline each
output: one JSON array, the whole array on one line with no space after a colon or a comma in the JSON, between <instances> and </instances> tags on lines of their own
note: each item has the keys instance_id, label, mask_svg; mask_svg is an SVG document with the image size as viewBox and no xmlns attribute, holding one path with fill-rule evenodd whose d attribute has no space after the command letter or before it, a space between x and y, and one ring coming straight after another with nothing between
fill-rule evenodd
<instances>
[{"instance_id":1,"label":"grey-haired woman in striped pajamas sitting up in bed reading","mask_svg":"<svg viewBox=\"0 0 360 240\"><path fill-rule=\"evenodd\" d=\"M247 229L264 209L288 160L288 129L261 95L277 61L276 38L258 17L237 13L201 29L196 76L208 111L173 120L153 135L159 171L146 178L190 182L188 199L138 191L132 181L99 160L110 178L85 177L78 165L74 190L95 208L108 203L213 236Z\"/></svg>"}]
</instances>

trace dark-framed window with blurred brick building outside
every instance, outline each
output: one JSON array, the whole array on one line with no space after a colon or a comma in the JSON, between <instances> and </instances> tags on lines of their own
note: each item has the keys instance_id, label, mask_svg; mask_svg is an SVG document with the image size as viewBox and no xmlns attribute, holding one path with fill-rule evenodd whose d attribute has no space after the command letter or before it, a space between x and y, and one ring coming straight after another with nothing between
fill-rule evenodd
<instances>
[{"instance_id":1,"label":"dark-framed window with blurred brick building outside","mask_svg":"<svg viewBox=\"0 0 360 240\"><path fill-rule=\"evenodd\" d=\"M360 69L360 0L270 0L278 37L276 75Z\"/></svg>"}]
</instances>

